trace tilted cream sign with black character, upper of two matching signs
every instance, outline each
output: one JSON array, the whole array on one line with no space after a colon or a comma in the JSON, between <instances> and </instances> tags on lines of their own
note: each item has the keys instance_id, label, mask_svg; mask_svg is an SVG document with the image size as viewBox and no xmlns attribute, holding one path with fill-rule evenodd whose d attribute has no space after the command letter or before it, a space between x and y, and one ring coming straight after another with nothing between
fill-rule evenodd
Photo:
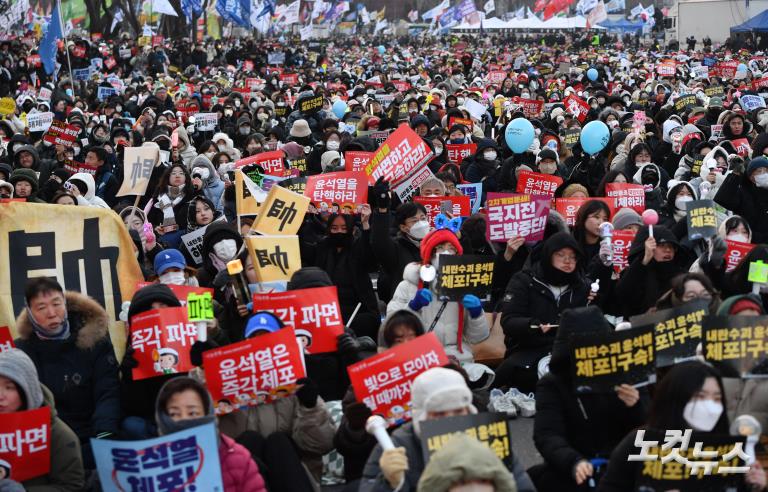
<instances>
[{"instance_id":1,"label":"tilted cream sign with black character, upper of two matching signs","mask_svg":"<svg viewBox=\"0 0 768 492\"><path fill-rule=\"evenodd\" d=\"M296 234L304 222L309 199L280 186L273 186L261 205L251 230L264 235Z\"/></svg>"}]
</instances>

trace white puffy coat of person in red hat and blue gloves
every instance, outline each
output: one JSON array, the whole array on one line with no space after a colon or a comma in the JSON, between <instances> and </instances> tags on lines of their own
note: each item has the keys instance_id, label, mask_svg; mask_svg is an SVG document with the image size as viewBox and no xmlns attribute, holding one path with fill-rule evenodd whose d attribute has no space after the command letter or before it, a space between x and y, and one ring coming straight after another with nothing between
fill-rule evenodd
<instances>
[{"instance_id":1,"label":"white puffy coat of person in red hat and blue gloves","mask_svg":"<svg viewBox=\"0 0 768 492\"><path fill-rule=\"evenodd\" d=\"M392 296L392 300L387 304L387 316L395 311L406 309L419 316L424 327L428 328L432 326L432 323L441 311L443 301L440 301L437 294L433 291L432 302L420 310L414 311L408 306L408 303L416 296L416 292L419 290L420 268L421 265L418 263L411 263L405 267L403 281L397 286L395 295ZM434 333L437 335L440 343L443 344L445 353L448 356L456 357L459 362L472 362L474 355L468 344L480 343L487 339L491 328L488 326L488 319L482 314L477 318L472 318L467 309L460 308L460 303L448 302L435 326ZM463 346L461 349L458 346L459 315L464 316Z\"/></svg>"}]
</instances>

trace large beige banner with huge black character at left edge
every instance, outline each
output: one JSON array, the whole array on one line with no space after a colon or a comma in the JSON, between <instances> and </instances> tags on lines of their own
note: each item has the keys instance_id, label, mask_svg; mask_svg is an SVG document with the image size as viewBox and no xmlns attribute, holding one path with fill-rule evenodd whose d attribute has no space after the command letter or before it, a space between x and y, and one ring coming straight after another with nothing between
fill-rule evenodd
<instances>
[{"instance_id":1,"label":"large beige banner with huge black character at left edge","mask_svg":"<svg viewBox=\"0 0 768 492\"><path fill-rule=\"evenodd\" d=\"M62 226L65 224L66 226ZM33 277L53 277L81 292L109 317L115 354L122 358L125 330L117 323L123 301L144 280L133 241L112 210L10 202L0 207L0 326L15 333L26 307L24 289Z\"/></svg>"}]
</instances>

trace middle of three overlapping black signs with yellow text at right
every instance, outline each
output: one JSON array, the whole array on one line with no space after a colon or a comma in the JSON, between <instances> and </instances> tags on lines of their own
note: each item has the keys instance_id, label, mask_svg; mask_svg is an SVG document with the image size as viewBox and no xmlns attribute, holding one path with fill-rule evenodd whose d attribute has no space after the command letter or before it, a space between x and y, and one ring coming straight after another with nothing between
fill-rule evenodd
<instances>
[{"instance_id":1,"label":"middle of three overlapping black signs with yellow text at right","mask_svg":"<svg viewBox=\"0 0 768 492\"><path fill-rule=\"evenodd\" d=\"M666 367L696 356L701 343L701 320L709 312L709 301L696 300L682 306L630 318L632 326L653 326L656 367Z\"/></svg>"}]
</instances>

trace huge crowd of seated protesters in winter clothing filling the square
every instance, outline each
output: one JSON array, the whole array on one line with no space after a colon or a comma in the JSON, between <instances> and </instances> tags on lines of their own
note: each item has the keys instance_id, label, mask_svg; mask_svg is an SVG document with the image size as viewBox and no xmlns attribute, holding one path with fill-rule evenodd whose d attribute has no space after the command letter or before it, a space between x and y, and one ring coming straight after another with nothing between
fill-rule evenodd
<instances>
[{"instance_id":1,"label":"huge crowd of seated protesters in winter clothing filling the square","mask_svg":"<svg viewBox=\"0 0 768 492\"><path fill-rule=\"evenodd\" d=\"M358 36L153 39L140 46L127 36L80 39L61 47L56 79L37 65L34 38L1 42L0 97L16 107L0 120L0 198L119 214L134 249L120 254L135 255L151 282L133 293L128 322L180 306L169 285L214 287L215 320L207 341L191 349L196 366L207 350L283 326L216 282L234 259L249 283L258 280L243 248L252 221L237 217L238 160L278 150L288 168L305 163L301 176L344 170L349 152L378 149L370 132L406 125L433 153L426 166L434 177L419 195L458 196L466 183L481 183L482 193L479 212L456 231L435 229L422 204L401 201L383 179L354 213L310 206L298 233L302 268L287 288L336 286L347 325L338 352L307 355L307 378L296 393L221 416L198 369L134 380L130 340L118 360L103 306L55 280L30 279L14 327L17 348L0 353L0 413L51 408L51 467L23 484L4 478L0 491L99 490L91 439L146 439L213 421L227 492L318 490L328 474L323 457L332 452L344 458L345 490L628 491L641 466L626 459L638 428L727 434L735 416L750 414L768 429L764 379L723 375L699 358L650 386L580 393L569 349L575 333L612 332L631 316L700 300L712 315L765 315L768 290L754 290L748 275L750 263L768 262L768 60L710 46L669 52L629 50L620 39L598 46L572 37L540 41ZM284 60L270 64L274 52ZM489 81L497 72L504 77ZM296 78L281 76L287 73ZM100 98L100 88L116 91ZM299 109L318 95L322 109ZM688 95L693 104L677 104ZM566 102L570 96L586 103L583 112ZM521 100L541 104L532 113ZM341 114L337 101L344 101ZM481 114L467 109L477 104ZM45 112L74 125L77 139L51 144L45 131L30 131L30 116ZM217 114L215 129L200 130L197 113ZM505 130L520 118L535 136L513 153ZM589 154L566 136L592 121L610 134ZM475 151L453 162L447 146L456 144L475 144ZM169 155L152 168L137 202L117 196L127 147ZM92 173L73 174L73 163ZM517 192L521 171L561 178L556 198L586 200L573 225L551 209L540 241L491 242L487 195ZM652 232L633 208L606 204L611 183L642 185L646 209L659 217ZM697 199L716 204L712 238L688 234L686 204ZM620 273L603 241L606 222L636 232ZM181 236L206 226L196 265ZM727 271L726 241L756 246ZM422 267L462 254L493 261L491 293L441 302ZM503 357L480 360L473 346L494 329L503 331ZM428 331L450 363L414 380L412 422L390 429L396 447L384 450L365 430L371 411L351 390L347 367ZM498 409L489 396L496 389L507 395L510 417L535 419L541 463L526 469L513 459L507 466L471 440L425 463L420 423ZM599 470L598 458L607 460ZM768 489L759 462L739 480L739 490Z\"/></svg>"}]
</instances>

